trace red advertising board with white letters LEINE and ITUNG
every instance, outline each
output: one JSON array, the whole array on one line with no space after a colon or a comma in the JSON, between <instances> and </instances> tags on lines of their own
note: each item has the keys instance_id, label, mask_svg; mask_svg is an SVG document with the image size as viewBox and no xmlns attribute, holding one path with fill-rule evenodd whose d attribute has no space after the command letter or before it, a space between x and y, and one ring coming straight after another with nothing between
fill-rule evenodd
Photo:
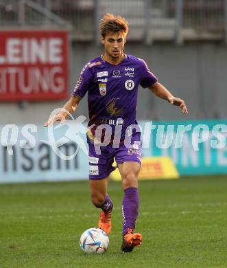
<instances>
[{"instance_id":1,"label":"red advertising board with white letters LEINE and ITUNG","mask_svg":"<svg viewBox=\"0 0 227 268\"><path fill-rule=\"evenodd\" d=\"M66 31L0 31L0 101L68 96Z\"/></svg>"}]
</instances>

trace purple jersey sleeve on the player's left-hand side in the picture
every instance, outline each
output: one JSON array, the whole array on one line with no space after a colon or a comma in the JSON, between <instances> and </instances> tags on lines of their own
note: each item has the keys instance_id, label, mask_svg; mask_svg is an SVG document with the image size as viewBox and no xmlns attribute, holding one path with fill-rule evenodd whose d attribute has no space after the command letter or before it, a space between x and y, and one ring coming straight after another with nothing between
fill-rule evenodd
<instances>
[{"instance_id":1,"label":"purple jersey sleeve on the player's left-hand side in the picture","mask_svg":"<svg viewBox=\"0 0 227 268\"><path fill-rule=\"evenodd\" d=\"M73 96L80 99L84 98L84 95L88 91L89 85L91 83L92 71L88 66L89 63L86 64L82 69L80 77L78 78L72 93Z\"/></svg>"}]
</instances>

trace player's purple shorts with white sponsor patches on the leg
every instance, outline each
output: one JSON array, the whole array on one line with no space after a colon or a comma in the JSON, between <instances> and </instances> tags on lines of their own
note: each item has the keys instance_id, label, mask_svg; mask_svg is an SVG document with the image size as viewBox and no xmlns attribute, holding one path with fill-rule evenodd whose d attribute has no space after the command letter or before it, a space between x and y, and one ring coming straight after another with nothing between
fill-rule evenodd
<instances>
[{"instance_id":1,"label":"player's purple shorts with white sponsor patches on the leg","mask_svg":"<svg viewBox=\"0 0 227 268\"><path fill-rule=\"evenodd\" d=\"M89 146L89 179L105 179L117 167L112 166L114 158L117 165L133 161L141 164L141 142L138 135L132 136L132 148L125 144L119 144L119 148L113 148L112 144L100 147L101 153L97 154L94 144L88 142Z\"/></svg>"}]
</instances>

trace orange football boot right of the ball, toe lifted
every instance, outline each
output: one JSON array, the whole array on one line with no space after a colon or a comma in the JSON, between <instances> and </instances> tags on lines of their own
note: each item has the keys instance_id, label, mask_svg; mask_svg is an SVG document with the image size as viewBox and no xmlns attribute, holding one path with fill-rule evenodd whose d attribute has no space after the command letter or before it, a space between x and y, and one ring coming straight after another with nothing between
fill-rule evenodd
<instances>
[{"instance_id":1,"label":"orange football boot right of the ball, toe lifted","mask_svg":"<svg viewBox=\"0 0 227 268\"><path fill-rule=\"evenodd\" d=\"M121 250L123 252L132 252L134 247L141 245L143 236L139 233L133 234L132 229L128 229L128 232L123 236Z\"/></svg>"}]
</instances>

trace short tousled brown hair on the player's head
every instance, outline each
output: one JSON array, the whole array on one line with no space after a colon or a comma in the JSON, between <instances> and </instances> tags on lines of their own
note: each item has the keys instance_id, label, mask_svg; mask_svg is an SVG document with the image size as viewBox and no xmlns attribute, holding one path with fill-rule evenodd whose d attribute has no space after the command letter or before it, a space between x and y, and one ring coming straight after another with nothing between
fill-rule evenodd
<instances>
[{"instance_id":1,"label":"short tousled brown hair on the player's head","mask_svg":"<svg viewBox=\"0 0 227 268\"><path fill-rule=\"evenodd\" d=\"M115 16L107 13L99 22L99 31L102 37L105 38L108 32L123 32L128 34L128 22L121 16Z\"/></svg>"}]
</instances>

